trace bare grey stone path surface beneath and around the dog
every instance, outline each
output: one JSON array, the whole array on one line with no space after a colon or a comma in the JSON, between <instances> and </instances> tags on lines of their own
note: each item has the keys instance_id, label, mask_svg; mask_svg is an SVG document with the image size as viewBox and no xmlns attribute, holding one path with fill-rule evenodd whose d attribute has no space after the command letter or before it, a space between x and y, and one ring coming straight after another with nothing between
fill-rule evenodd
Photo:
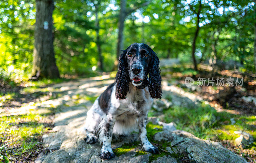
<instances>
[{"instance_id":1,"label":"bare grey stone path surface beneath and around the dog","mask_svg":"<svg viewBox=\"0 0 256 163\"><path fill-rule=\"evenodd\" d=\"M102 80L104 79L104 80ZM114 163L136 163L149 162L150 153L136 156L135 151L129 151L119 157L111 160L100 159L101 146L96 144L86 144L84 141L83 126L86 118L86 112L92 106L88 100L80 100L76 95L81 96L99 96L108 84L114 82L109 76L96 78L80 79L77 81L55 84L52 86L52 93L61 93L61 97L45 101L40 105L33 107L56 107L54 118L55 127L51 132L43 136L45 149L48 150L47 155L40 155L36 163L84 163L84 162L114 162ZM73 97L73 98L72 98ZM168 105L193 108L200 102L200 98L182 89L170 86L163 81L163 97L169 97L167 101L163 101L166 107ZM77 102L79 101L79 102ZM154 124L159 124L156 118L149 118ZM220 144L201 140L185 131L175 130L173 123L161 123L164 131L156 133L154 139L156 141L164 141L169 143L166 147L169 155L187 154L189 159L197 162L246 162L244 159L236 156L233 152L227 151ZM172 131L172 132L171 132ZM123 144L131 143L138 140L138 134L134 133L130 136L118 136L113 138L112 148L118 148ZM159 143L161 144L161 143ZM228 159L228 155L230 158ZM174 162L176 159L172 156L163 156L157 158L153 162Z\"/></svg>"}]
</instances>

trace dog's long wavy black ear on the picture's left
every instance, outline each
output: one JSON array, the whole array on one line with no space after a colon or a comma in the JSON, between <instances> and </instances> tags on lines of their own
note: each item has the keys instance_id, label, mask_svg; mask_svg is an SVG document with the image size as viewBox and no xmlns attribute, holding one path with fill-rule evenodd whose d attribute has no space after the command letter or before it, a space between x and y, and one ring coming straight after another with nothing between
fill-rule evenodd
<instances>
[{"instance_id":1,"label":"dog's long wavy black ear on the picture's left","mask_svg":"<svg viewBox=\"0 0 256 163\"><path fill-rule=\"evenodd\" d=\"M129 74L126 62L127 49L123 51L118 60L118 71L116 73L116 98L124 99L129 90Z\"/></svg>"}]
</instances>

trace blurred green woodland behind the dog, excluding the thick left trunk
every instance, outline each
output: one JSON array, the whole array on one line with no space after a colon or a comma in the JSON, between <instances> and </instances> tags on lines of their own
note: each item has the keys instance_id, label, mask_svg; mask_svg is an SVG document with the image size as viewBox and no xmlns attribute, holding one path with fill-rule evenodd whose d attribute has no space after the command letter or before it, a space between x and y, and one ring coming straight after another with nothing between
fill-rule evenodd
<instances>
[{"instance_id":1,"label":"blurred green woodland behind the dog, excluding the thick left trunk","mask_svg":"<svg viewBox=\"0 0 256 163\"><path fill-rule=\"evenodd\" d=\"M35 6L34 0L0 2L2 78L31 77ZM232 62L252 73L255 13L249 0L56 0L52 55L62 76L92 75L113 70L121 50L143 42L160 58L179 58L195 70L198 63Z\"/></svg>"}]
</instances>

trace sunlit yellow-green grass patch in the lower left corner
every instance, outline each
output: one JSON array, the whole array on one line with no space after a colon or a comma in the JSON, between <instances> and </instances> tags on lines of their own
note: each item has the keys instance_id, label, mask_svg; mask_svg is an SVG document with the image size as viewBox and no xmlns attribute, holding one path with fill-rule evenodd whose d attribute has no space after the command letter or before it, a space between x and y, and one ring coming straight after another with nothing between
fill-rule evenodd
<instances>
[{"instance_id":1,"label":"sunlit yellow-green grass patch in the lower left corner","mask_svg":"<svg viewBox=\"0 0 256 163\"><path fill-rule=\"evenodd\" d=\"M49 127L43 122L44 114L24 114L16 116L5 116L0 114L0 142L2 144L10 144L15 146L15 150L8 155L21 156L25 153L36 150L39 145L39 136ZM1 156L5 152L0 150Z\"/></svg>"}]
</instances>

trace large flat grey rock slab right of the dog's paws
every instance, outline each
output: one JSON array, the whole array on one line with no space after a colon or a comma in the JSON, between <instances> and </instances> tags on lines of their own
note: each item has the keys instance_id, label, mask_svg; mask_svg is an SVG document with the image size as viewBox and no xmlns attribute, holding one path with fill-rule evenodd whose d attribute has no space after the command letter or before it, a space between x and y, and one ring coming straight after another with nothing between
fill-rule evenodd
<instances>
[{"instance_id":1,"label":"large flat grey rock slab right of the dog's paws","mask_svg":"<svg viewBox=\"0 0 256 163\"><path fill-rule=\"evenodd\" d=\"M189 159L199 163L247 162L244 158L224 148L220 143L199 139L186 131L162 131L156 133L154 139L156 141L171 141L170 148L173 151L176 149L179 154L187 153Z\"/></svg>"}]
</instances>

